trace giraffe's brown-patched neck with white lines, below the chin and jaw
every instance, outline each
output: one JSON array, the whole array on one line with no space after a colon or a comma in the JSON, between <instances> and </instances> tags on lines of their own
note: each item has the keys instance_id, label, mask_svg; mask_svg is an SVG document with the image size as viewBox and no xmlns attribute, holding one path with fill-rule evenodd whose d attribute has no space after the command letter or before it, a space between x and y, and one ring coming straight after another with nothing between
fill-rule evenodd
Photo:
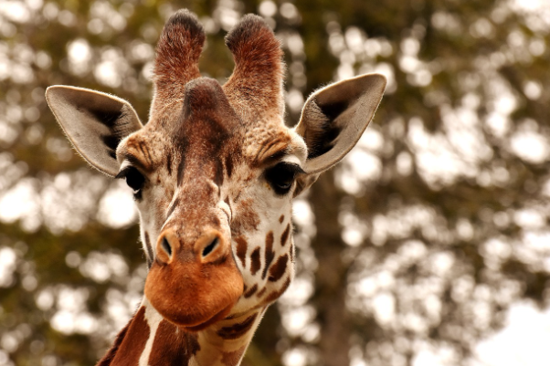
<instances>
[{"instance_id":1,"label":"giraffe's brown-patched neck with white lines, below the chin and jaw","mask_svg":"<svg viewBox=\"0 0 550 366\"><path fill-rule=\"evenodd\" d=\"M96 366L238 366L265 308L196 332L163 319L147 298Z\"/></svg>"}]
</instances>

